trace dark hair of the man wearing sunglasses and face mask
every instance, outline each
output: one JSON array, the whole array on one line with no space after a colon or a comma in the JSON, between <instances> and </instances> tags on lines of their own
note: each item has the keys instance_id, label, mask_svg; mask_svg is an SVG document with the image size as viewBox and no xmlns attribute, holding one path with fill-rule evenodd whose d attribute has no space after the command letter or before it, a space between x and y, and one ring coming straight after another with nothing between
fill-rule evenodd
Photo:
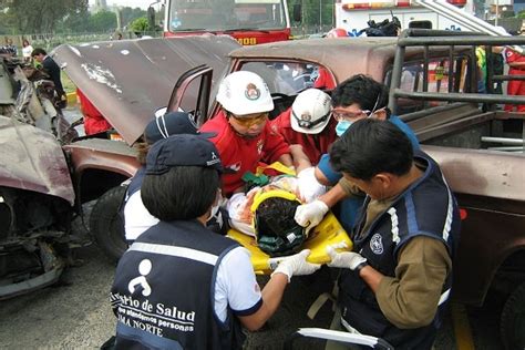
<instances>
[{"instance_id":1,"label":"dark hair of the man wearing sunglasses and face mask","mask_svg":"<svg viewBox=\"0 0 525 350\"><path fill-rule=\"evenodd\" d=\"M389 90L370 76L357 74L337 85L331 97L334 107L358 103L362 110L372 111L374 106L379 110L388 105Z\"/></svg>"}]
</instances>

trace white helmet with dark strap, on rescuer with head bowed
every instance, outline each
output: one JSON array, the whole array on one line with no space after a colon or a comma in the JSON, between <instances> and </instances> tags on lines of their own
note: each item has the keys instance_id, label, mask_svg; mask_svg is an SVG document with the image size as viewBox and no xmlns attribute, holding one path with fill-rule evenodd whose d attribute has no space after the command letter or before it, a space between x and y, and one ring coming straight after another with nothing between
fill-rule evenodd
<instances>
[{"instance_id":1,"label":"white helmet with dark strap, on rescuer with head bowed","mask_svg":"<svg viewBox=\"0 0 525 350\"><path fill-rule=\"evenodd\" d=\"M331 99L319 89L297 95L291 105L291 128L298 133L319 134L330 121Z\"/></svg>"}]
</instances>

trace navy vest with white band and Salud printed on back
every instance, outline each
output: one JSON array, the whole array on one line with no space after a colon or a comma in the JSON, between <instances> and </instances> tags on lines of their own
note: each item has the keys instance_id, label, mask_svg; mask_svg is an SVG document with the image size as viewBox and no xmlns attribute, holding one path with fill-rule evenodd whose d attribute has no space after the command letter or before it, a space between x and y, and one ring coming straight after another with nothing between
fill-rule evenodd
<instances>
[{"instance_id":1,"label":"navy vest with white band and Salud printed on back","mask_svg":"<svg viewBox=\"0 0 525 350\"><path fill-rule=\"evenodd\" d=\"M240 349L244 336L231 310L214 309L222 258L238 244L200 223L161 222L119 261L111 289L117 349Z\"/></svg>"}]
</instances>

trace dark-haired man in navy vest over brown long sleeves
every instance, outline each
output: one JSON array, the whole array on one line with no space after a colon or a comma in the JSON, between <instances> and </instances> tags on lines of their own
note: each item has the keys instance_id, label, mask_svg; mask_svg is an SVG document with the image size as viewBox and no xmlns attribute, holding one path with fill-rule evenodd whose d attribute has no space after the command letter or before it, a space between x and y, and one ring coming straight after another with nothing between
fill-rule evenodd
<instances>
[{"instance_id":1,"label":"dark-haired man in navy vest over brown long sleeves","mask_svg":"<svg viewBox=\"0 0 525 350\"><path fill-rule=\"evenodd\" d=\"M437 164L392 123L361 120L333 144L346 192L367 194L353 251L336 253L341 323L395 349L431 349L459 241L455 198Z\"/></svg>"}]
</instances>

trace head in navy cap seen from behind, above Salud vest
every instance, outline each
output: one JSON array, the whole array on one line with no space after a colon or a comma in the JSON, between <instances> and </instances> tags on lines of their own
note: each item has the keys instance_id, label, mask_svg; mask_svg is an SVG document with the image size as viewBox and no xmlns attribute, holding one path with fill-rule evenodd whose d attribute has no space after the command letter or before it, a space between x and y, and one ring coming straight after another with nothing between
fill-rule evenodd
<instances>
[{"instance_id":1,"label":"head in navy cap seen from behind, above Salud vest","mask_svg":"<svg viewBox=\"0 0 525 350\"><path fill-rule=\"evenodd\" d=\"M217 199L223 165L218 151L199 135L156 142L146 158L141 186L144 206L164 222L208 216Z\"/></svg>"}]
</instances>

